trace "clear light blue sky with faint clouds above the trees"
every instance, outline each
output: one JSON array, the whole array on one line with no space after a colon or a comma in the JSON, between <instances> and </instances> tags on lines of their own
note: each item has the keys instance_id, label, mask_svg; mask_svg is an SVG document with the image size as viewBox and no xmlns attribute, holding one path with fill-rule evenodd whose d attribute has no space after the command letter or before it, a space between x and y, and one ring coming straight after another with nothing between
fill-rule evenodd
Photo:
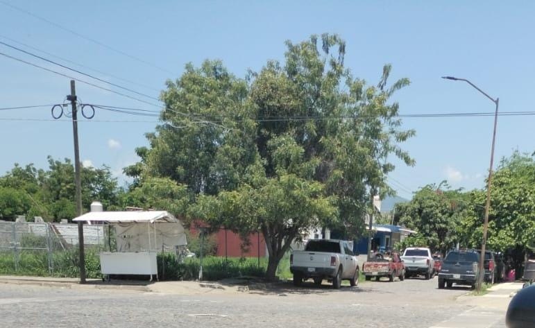
<instances>
[{"instance_id":1,"label":"clear light blue sky with faint clouds above the trees","mask_svg":"<svg viewBox=\"0 0 535 328\"><path fill-rule=\"evenodd\" d=\"M468 78L500 98L500 112L518 112L535 107L534 9L532 1L508 5L506 1L0 0L0 41L158 97L165 80L178 78L187 62L198 65L206 58L220 59L233 74L244 77L247 69L258 71L266 60L282 60L285 40L339 33L347 42L345 62L354 76L375 85L383 64L390 63L391 81L410 78L411 85L395 96L401 114L493 112L488 98L466 83L441 79L444 75ZM90 80L1 44L0 52ZM69 94L69 78L0 56L0 90L0 107L62 103ZM83 103L158 110L82 83L77 83L76 92ZM80 119L78 124L80 159L94 166L106 164L124 181L121 169L137 162L134 149L146 145L144 133L153 132L156 124L153 117L97 111L92 120ZM534 125L535 116L500 116L496 162L513 150L532 153ZM403 126L416 130L416 137L402 145L416 166L395 161L389 181L399 196L410 198L418 187L441 180L455 188L484 187L492 116L407 118ZM47 155L74 157L72 125L53 120L50 107L0 110L0 140L1 174L15 162L46 168Z\"/></svg>"}]
</instances>

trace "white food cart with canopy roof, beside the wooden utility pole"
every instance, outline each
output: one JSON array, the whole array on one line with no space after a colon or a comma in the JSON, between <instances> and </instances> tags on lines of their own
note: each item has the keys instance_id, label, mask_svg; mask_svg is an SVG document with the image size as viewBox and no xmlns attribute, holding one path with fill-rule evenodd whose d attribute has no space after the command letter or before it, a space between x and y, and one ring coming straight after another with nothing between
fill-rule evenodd
<instances>
[{"instance_id":1,"label":"white food cart with canopy roof, beside the wooden utility pole","mask_svg":"<svg viewBox=\"0 0 535 328\"><path fill-rule=\"evenodd\" d=\"M110 275L158 279L156 254L187 244L182 223L166 211L90 212L73 221L108 223L114 229L117 251L99 254L103 279Z\"/></svg>"}]
</instances>

